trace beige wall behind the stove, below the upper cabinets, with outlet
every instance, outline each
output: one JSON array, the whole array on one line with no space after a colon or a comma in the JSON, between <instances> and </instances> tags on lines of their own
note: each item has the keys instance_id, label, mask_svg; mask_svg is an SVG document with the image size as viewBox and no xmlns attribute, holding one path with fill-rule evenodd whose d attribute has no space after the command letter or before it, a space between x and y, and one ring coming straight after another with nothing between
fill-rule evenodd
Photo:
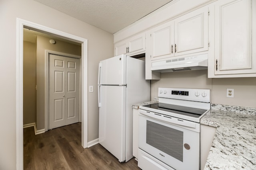
<instances>
[{"instance_id":1,"label":"beige wall behind the stove, below the upper cabinets, with outlet","mask_svg":"<svg viewBox=\"0 0 256 170\"><path fill-rule=\"evenodd\" d=\"M202 88L211 90L211 103L256 107L256 77L207 78L207 70L162 73L161 80L151 80L151 100L158 87ZM234 88L234 98L226 97L226 88Z\"/></svg>"}]
</instances>

